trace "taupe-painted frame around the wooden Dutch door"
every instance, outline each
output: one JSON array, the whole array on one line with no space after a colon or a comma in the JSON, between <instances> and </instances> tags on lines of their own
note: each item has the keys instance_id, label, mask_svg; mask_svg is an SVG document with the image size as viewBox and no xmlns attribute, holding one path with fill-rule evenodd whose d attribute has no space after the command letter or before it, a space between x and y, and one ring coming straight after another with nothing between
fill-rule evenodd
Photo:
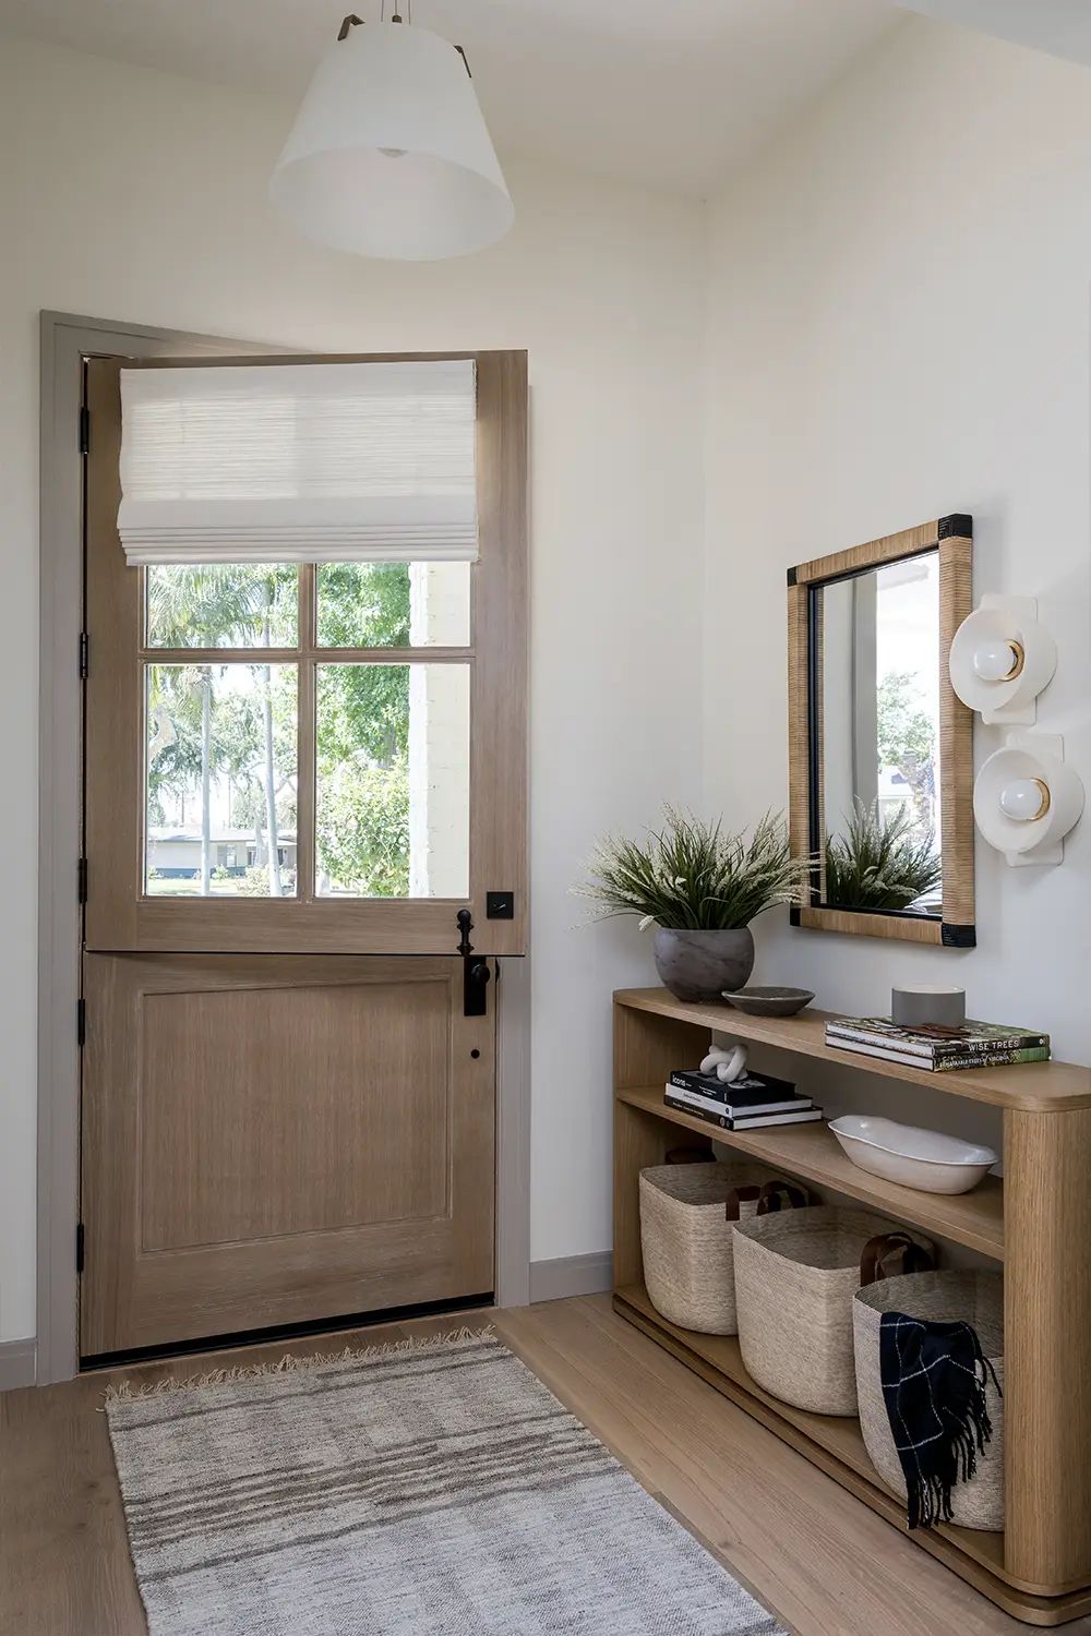
<instances>
[{"instance_id":1,"label":"taupe-painted frame around the wooden Dutch door","mask_svg":"<svg viewBox=\"0 0 1091 1636\"><path fill-rule=\"evenodd\" d=\"M38 1319L36 1381L79 1373L83 358L283 353L296 348L41 314L38 774ZM530 1301L530 957L499 962L496 1304Z\"/></svg>"}]
</instances>

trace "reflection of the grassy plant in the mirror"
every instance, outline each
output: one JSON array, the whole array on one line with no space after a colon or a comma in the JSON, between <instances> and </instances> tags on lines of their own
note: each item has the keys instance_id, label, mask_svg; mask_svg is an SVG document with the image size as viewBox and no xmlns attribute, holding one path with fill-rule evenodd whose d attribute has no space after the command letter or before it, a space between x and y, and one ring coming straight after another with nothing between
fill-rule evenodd
<instances>
[{"instance_id":1,"label":"reflection of the grassy plant in the mirror","mask_svg":"<svg viewBox=\"0 0 1091 1636\"><path fill-rule=\"evenodd\" d=\"M855 803L846 834L826 836L826 903L855 910L905 910L942 880L931 831L913 834L909 807L883 820L878 802Z\"/></svg>"}]
</instances>

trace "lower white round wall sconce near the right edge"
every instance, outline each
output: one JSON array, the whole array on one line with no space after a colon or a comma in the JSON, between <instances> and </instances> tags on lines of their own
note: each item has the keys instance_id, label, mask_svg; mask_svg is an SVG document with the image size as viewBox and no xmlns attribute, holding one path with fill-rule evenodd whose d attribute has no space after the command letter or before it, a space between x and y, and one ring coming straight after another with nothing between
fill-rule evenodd
<instances>
[{"instance_id":1,"label":"lower white round wall sconce near the right edge","mask_svg":"<svg viewBox=\"0 0 1091 1636\"><path fill-rule=\"evenodd\" d=\"M967 620L967 623L970 623ZM1055 733L1009 733L973 784L977 826L1009 864L1062 864L1083 784Z\"/></svg>"}]
</instances>

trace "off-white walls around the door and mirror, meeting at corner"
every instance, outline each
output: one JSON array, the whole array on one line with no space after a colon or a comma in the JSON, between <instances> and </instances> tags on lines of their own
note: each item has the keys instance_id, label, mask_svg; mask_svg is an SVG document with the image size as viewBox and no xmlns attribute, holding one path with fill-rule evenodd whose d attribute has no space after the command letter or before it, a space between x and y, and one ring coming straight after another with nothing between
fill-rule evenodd
<instances>
[{"instance_id":1,"label":"off-white walls around the door and mirror, meeting at corner","mask_svg":"<svg viewBox=\"0 0 1091 1636\"><path fill-rule=\"evenodd\" d=\"M702 772L731 821L785 805L788 564L973 512L975 591L1040 599L1062 649L1040 726L1091 784L1088 85L908 21L713 203L705 330L692 203L510 164L519 224L496 250L355 262L263 204L288 108L5 46L0 1338L33 1328L38 309L314 350L528 347L532 1253L592 1252L610 1240L608 991L651 980L651 962L630 924L571 931L566 888L595 833L695 798ZM998 741L978 726L978 759ZM1091 823L1062 870L1009 870L978 843L977 883L973 952L767 916L757 977L867 1009L891 980L942 973L978 1014L1040 1024L1091 1062ZM923 1093L919 1117L970 1108Z\"/></svg>"}]
</instances>

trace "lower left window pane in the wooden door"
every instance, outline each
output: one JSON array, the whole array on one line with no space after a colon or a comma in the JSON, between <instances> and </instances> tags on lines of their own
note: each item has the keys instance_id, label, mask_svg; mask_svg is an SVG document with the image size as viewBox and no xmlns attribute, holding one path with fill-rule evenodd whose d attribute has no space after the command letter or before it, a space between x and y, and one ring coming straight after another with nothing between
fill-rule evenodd
<instances>
[{"instance_id":1,"label":"lower left window pane in the wooden door","mask_svg":"<svg viewBox=\"0 0 1091 1636\"><path fill-rule=\"evenodd\" d=\"M144 890L294 897L294 664L146 666Z\"/></svg>"}]
</instances>

